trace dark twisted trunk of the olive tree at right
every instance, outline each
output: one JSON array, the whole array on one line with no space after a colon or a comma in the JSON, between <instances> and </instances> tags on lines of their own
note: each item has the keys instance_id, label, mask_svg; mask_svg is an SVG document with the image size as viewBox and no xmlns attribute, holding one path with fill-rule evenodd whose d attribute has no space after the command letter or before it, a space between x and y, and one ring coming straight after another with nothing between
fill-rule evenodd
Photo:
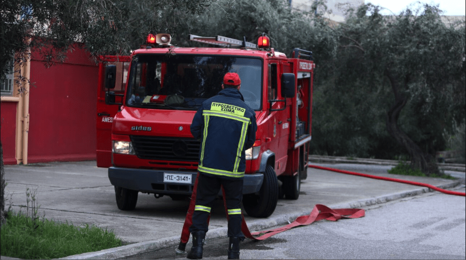
<instances>
[{"instance_id":1,"label":"dark twisted trunk of the olive tree at right","mask_svg":"<svg viewBox=\"0 0 466 260\"><path fill-rule=\"evenodd\" d=\"M424 152L411 138L398 127L398 117L401 110L405 107L408 102L408 98L400 93L399 83L395 80L392 73L388 70L385 74L390 80L392 85L393 94L395 96L395 102L387 112L387 130L396 140L396 142L403 146L408 152L411 160L411 167L413 169L420 169L426 175L438 175L439 167L435 163L435 159L432 155Z\"/></svg>"}]
</instances>

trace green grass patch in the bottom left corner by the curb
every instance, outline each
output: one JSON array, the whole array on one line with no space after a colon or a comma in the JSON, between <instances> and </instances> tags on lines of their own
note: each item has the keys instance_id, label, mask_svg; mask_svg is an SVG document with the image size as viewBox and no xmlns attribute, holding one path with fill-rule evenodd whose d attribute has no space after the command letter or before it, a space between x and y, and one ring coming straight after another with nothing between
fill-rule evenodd
<instances>
[{"instance_id":1,"label":"green grass patch in the bottom left corner by the curb","mask_svg":"<svg viewBox=\"0 0 466 260\"><path fill-rule=\"evenodd\" d=\"M73 226L45 217L9 212L1 226L1 255L21 259L54 259L122 245L107 229Z\"/></svg>"}]
</instances>

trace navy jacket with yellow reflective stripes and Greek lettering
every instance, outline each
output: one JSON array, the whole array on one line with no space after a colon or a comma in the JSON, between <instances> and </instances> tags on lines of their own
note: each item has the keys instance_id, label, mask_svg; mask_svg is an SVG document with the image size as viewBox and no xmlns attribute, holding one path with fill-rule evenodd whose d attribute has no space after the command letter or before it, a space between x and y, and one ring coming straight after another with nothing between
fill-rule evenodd
<instances>
[{"instance_id":1,"label":"navy jacket with yellow reflective stripes and Greek lettering","mask_svg":"<svg viewBox=\"0 0 466 260\"><path fill-rule=\"evenodd\" d=\"M200 173L243 178L245 151L256 138L256 114L236 88L222 89L197 110L191 133L201 141Z\"/></svg>"}]
</instances>

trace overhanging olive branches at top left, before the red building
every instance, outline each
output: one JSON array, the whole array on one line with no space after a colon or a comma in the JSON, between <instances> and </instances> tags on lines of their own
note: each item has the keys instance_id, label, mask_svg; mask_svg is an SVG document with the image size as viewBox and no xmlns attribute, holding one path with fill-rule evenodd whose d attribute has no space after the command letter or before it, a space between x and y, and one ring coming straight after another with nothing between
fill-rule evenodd
<instances>
[{"instance_id":1,"label":"overhanging olive branches at top left, before the red building","mask_svg":"<svg viewBox=\"0 0 466 260\"><path fill-rule=\"evenodd\" d=\"M21 65L34 50L39 51L47 66L64 61L65 53L76 41L83 43L81 46L95 58L129 54L144 43L148 33L171 30L180 21L199 15L216 3L217 0L0 0L0 76L5 77L13 57L15 64ZM19 81L28 79L20 76ZM3 220L1 144L0 154Z\"/></svg>"}]
</instances>

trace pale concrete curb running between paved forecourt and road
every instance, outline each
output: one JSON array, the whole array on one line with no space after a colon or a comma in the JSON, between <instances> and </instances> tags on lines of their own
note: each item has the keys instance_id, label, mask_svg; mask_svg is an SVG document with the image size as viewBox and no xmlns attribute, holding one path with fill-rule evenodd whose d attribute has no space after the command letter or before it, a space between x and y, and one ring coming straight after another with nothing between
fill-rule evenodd
<instances>
[{"instance_id":1,"label":"pale concrete curb running between paved forecourt and road","mask_svg":"<svg viewBox=\"0 0 466 260\"><path fill-rule=\"evenodd\" d=\"M450 183L442 184L436 187L441 188L441 189L448 189L448 188L456 187L460 184L461 184L460 180L455 180ZM327 206L329 208L334 208L334 209L367 207L367 206L371 206L375 204L386 203L392 200L415 196L415 195L433 192L433 191L434 190L430 188L423 187L423 188L418 188L418 189L405 191L401 193L388 194L388 195L383 195L383 196L374 197L374 198L362 199L362 200L351 201L351 202L344 202L344 203L340 203L336 205L327 205ZM249 222L247 225L249 227L249 230L251 230L251 232L264 230L264 229L271 229L274 227L283 226L288 223L291 223L297 217L300 217L303 215L309 215L311 210L312 209L308 209L307 211L294 212L289 215L279 215L273 218L257 219L257 220ZM221 227L221 228L209 230L209 232L207 233L207 241L210 239L214 239L214 238L225 237L226 233L227 233L227 227ZM60 259L79 259L79 260L117 259L117 258L123 258L123 257L137 255L137 254L147 253L151 251L156 251L156 250L168 248L168 247L173 247L173 251L174 251L175 248L179 244L179 239L180 239L180 236L175 236L175 237L162 238L162 239L157 239L157 240L144 241L144 242L139 242L135 244L105 249L105 250L101 250L97 252L90 252L90 253L84 253L84 254L79 254L79 255L74 255L74 256L68 256L68 257L60 258ZM6 259L6 258L2 257L2 259Z\"/></svg>"}]
</instances>

